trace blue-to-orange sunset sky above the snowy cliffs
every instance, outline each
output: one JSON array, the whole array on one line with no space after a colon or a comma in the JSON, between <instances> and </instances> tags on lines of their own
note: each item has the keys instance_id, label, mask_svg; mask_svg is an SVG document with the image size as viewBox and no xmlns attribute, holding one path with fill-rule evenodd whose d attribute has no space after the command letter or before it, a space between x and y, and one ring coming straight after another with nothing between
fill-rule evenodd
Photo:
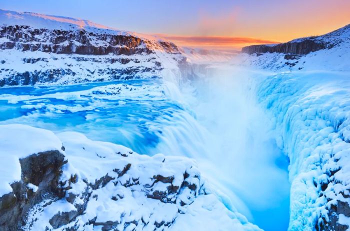
<instances>
[{"instance_id":1,"label":"blue-to-orange sunset sky above the snowy cliffs","mask_svg":"<svg viewBox=\"0 0 350 231\"><path fill-rule=\"evenodd\" d=\"M0 0L0 8L88 19L214 48L283 42L350 23L350 0Z\"/></svg>"}]
</instances>

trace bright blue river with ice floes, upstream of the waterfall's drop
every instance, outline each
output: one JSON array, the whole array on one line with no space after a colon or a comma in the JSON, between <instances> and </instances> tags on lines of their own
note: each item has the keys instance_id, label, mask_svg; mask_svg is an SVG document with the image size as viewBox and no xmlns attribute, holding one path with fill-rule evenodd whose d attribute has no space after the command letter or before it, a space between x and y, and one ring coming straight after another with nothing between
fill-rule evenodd
<instances>
[{"instance_id":1,"label":"bright blue river with ice floes, upstream of the waterfall's drop","mask_svg":"<svg viewBox=\"0 0 350 231\"><path fill-rule=\"evenodd\" d=\"M112 84L124 84L127 87L161 86L157 80L128 80L1 88L0 123L23 123L54 132L74 130L94 140L110 141L139 153L155 154L159 151L155 148L159 136L166 126L172 122L181 122L184 115L189 116L169 98L147 97L154 93L153 89L146 89L137 98L129 96L127 90L120 97L109 97L108 94L100 94L99 98L80 95L82 91ZM163 93L161 88L155 91ZM64 93L79 96L62 97ZM14 102L9 102L9 97L14 97Z\"/></svg>"}]
</instances>

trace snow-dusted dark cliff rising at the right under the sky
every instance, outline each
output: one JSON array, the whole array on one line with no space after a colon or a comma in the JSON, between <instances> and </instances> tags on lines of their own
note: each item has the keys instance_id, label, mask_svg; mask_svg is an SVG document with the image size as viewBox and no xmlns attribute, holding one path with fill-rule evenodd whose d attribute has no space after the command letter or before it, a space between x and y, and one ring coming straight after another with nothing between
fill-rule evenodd
<instances>
[{"instance_id":1,"label":"snow-dusted dark cliff rising at the right under the sky","mask_svg":"<svg viewBox=\"0 0 350 231\"><path fill-rule=\"evenodd\" d=\"M349 47L350 24L320 36L243 47L239 62L272 71L348 71Z\"/></svg>"}]
</instances>

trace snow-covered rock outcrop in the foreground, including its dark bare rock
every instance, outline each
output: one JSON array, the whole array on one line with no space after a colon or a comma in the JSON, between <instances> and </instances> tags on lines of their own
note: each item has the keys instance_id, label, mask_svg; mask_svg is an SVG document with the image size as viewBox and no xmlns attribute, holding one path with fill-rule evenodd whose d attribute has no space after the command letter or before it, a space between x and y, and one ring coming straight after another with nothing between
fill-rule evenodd
<instances>
[{"instance_id":1,"label":"snow-covered rock outcrop in the foreground, including its dark bare rock","mask_svg":"<svg viewBox=\"0 0 350 231\"><path fill-rule=\"evenodd\" d=\"M13 130L12 125L1 125L1 135L4 128ZM13 128L22 133L17 141L30 149L40 149L41 139L55 140L55 145L61 141L63 146L18 160L21 179L10 183L12 191L0 197L0 230L179 230L181 222L194 224L198 219L221 230L260 230L211 193L191 159L139 155L76 132L57 137L25 125ZM46 136L25 143L21 137L32 132ZM15 138L14 133L7 136ZM7 173L15 170L6 167Z\"/></svg>"}]
</instances>

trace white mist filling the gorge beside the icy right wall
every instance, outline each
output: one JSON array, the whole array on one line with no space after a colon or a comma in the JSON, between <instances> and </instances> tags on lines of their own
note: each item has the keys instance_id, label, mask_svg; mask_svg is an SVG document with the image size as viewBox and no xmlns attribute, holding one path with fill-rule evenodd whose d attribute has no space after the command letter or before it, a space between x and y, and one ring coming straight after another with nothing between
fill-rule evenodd
<instances>
[{"instance_id":1,"label":"white mist filling the gorge beside the icy right wall","mask_svg":"<svg viewBox=\"0 0 350 231\"><path fill-rule=\"evenodd\" d=\"M175 119L176 127L187 128L168 127L157 149L196 159L229 209L265 230L286 230L288 159L275 143L273 121L255 98L265 75L219 65L183 86L181 100L190 109ZM173 87L170 91L181 101Z\"/></svg>"}]
</instances>

